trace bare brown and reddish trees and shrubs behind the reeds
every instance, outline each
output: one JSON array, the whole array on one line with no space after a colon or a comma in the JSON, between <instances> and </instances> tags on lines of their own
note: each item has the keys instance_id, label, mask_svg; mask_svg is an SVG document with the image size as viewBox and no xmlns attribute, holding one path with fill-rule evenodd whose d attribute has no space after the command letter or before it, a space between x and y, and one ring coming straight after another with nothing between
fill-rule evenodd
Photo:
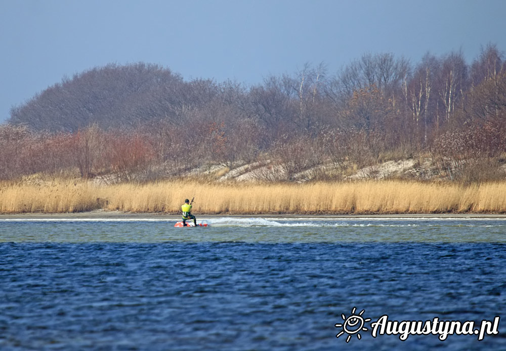
<instances>
[{"instance_id":1,"label":"bare brown and reddish trees and shrubs behind the reeds","mask_svg":"<svg viewBox=\"0 0 506 351\"><path fill-rule=\"evenodd\" d=\"M506 63L495 45L471 64L461 52L414 65L365 54L335 74L306 64L250 87L186 82L157 65L108 65L46 89L13 108L8 122L0 128L4 179L153 179L252 163L279 169L279 179L265 173L272 180L303 171L342 178L425 157L432 168L421 179L497 179L506 158Z\"/></svg>"}]
</instances>

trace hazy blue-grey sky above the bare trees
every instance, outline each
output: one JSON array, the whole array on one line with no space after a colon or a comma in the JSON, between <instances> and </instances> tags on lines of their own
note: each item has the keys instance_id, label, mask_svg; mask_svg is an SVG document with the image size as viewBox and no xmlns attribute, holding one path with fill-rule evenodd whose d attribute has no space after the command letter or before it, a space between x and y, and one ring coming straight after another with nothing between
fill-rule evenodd
<instances>
[{"instance_id":1,"label":"hazy blue-grey sky above the bare trees","mask_svg":"<svg viewBox=\"0 0 506 351\"><path fill-rule=\"evenodd\" d=\"M506 0L0 0L0 123L64 76L156 63L185 80L333 74L364 53L506 50Z\"/></svg>"}]
</instances>

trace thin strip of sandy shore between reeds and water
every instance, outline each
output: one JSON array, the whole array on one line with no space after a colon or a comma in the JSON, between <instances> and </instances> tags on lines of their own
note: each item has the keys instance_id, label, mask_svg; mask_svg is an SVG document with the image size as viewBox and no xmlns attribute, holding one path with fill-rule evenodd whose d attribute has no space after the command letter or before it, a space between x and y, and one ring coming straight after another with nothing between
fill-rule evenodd
<instances>
[{"instance_id":1,"label":"thin strip of sandy shore between reeds and water","mask_svg":"<svg viewBox=\"0 0 506 351\"><path fill-rule=\"evenodd\" d=\"M493 213L404 213L404 214L294 214L294 213L276 213L276 214L198 214L195 213L197 220L200 218L504 218L506 214ZM9 213L0 214L0 220L5 219L159 219L159 220L179 220L181 215L158 212L123 212L94 210L86 212L69 213Z\"/></svg>"}]
</instances>

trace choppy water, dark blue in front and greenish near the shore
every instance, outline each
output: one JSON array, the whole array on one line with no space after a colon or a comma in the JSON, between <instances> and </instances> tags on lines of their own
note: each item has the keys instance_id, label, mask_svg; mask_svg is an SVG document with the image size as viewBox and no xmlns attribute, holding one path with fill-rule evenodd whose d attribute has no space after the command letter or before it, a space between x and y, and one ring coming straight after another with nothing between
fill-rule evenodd
<instances>
[{"instance_id":1,"label":"choppy water, dark blue in front and greenish near the shore","mask_svg":"<svg viewBox=\"0 0 506 351\"><path fill-rule=\"evenodd\" d=\"M334 326L506 318L506 219L203 221L0 219L0 349L506 349Z\"/></svg>"}]
</instances>

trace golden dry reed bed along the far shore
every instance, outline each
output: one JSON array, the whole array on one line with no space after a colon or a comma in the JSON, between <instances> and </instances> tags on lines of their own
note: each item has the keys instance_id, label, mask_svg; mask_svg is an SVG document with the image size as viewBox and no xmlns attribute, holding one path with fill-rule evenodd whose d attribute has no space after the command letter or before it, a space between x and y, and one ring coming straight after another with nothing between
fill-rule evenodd
<instances>
[{"instance_id":1,"label":"golden dry reed bed along the far shore","mask_svg":"<svg viewBox=\"0 0 506 351\"><path fill-rule=\"evenodd\" d=\"M0 182L0 213L96 209L198 214L506 213L506 182L475 185L408 181L242 184L160 181L95 185L81 180Z\"/></svg>"}]
</instances>

